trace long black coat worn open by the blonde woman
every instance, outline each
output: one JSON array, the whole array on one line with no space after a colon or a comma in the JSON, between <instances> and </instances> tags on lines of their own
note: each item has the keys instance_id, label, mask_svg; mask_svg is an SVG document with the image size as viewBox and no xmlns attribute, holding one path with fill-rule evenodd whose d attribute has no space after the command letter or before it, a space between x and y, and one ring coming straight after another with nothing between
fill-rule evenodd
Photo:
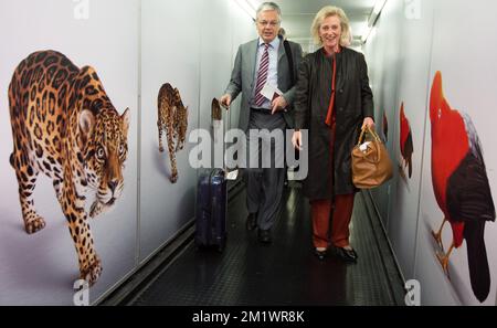
<instances>
[{"instance_id":1,"label":"long black coat worn open by the blonde woman","mask_svg":"<svg viewBox=\"0 0 497 328\"><path fill-rule=\"evenodd\" d=\"M332 180L330 128L325 124L331 97L331 61L325 56L324 50L319 49L308 54L299 65L294 103L295 128L309 130L309 170L304 181L304 194L310 200L331 199L334 194L356 191L351 177L350 152L357 144L364 117L374 117L364 56L343 47L336 54L336 60Z\"/></svg>"}]
</instances>

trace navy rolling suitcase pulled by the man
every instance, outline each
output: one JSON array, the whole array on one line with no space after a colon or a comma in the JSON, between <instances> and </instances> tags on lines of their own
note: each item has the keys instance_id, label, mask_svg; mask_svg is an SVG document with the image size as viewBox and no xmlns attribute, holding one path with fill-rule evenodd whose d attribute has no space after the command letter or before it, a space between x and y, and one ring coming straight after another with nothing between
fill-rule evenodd
<instances>
[{"instance_id":1,"label":"navy rolling suitcase pulled by the man","mask_svg":"<svg viewBox=\"0 0 497 328\"><path fill-rule=\"evenodd\" d=\"M216 246L222 252L226 244L226 179L224 170L203 172L197 189L195 245Z\"/></svg>"}]
</instances>

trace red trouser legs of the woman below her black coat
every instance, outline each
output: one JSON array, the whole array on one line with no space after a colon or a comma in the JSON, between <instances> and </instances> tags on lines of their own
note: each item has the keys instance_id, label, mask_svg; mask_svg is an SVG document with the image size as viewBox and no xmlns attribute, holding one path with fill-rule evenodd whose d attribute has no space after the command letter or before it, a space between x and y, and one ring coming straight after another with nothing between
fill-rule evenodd
<instances>
[{"instance_id":1,"label":"red trouser legs of the woman below her black coat","mask_svg":"<svg viewBox=\"0 0 497 328\"><path fill-rule=\"evenodd\" d=\"M313 243L315 247L327 248L330 243L337 247L349 245L349 224L352 218L353 193L339 194L331 200L310 202L313 216ZM329 231L331 219L331 233Z\"/></svg>"}]
</instances>

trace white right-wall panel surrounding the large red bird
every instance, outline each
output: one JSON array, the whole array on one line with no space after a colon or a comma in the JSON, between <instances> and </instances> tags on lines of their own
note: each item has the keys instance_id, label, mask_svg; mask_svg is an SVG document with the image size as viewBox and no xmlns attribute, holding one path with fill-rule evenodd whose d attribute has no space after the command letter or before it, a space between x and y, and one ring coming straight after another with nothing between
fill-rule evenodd
<instances>
[{"instance_id":1,"label":"white right-wall panel surrounding the large red bird","mask_svg":"<svg viewBox=\"0 0 497 328\"><path fill-rule=\"evenodd\" d=\"M450 8L450 10L447 10ZM494 202L497 192L497 154L494 149L497 104L497 66L493 64L497 46L488 40L495 39L497 22L494 12L497 3L474 1L470 10L462 0L438 0L435 7L435 27L431 60L430 86L436 71L442 73L444 96L453 109L466 113L478 134ZM473 27L473 28L468 28ZM485 46L483 46L485 45ZM469 283L466 241L450 257L448 274L445 275L436 260L432 230L438 230L443 213L438 208L432 186L432 125L426 124L425 162L420 213L416 276L423 282L425 304L495 305L497 288L497 223L487 222L485 244L489 262L491 284L489 296L480 303ZM452 145L451 147L456 147ZM452 243L452 229L443 231L445 250Z\"/></svg>"}]
</instances>

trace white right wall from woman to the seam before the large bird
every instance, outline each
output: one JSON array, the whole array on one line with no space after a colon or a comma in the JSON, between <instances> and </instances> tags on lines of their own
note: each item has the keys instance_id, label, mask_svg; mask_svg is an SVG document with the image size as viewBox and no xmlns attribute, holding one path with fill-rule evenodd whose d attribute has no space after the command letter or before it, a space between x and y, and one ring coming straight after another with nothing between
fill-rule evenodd
<instances>
[{"instance_id":1,"label":"white right wall from woman to the seam before the large bird","mask_svg":"<svg viewBox=\"0 0 497 328\"><path fill-rule=\"evenodd\" d=\"M373 55L371 65L374 75L373 89L376 107L384 110L389 124L388 145L395 165L390 188L390 200L374 195L381 208L388 207L388 232L405 278L414 276L414 261L417 230L417 209L423 159L423 136L426 121L426 98L430 50L433 30L433 2L423 2L420 17L411 12L401 1L388 1L381 13L376 33L368 41L368 56ZM393 10L392 10L393 9ZM417 14L417 12L416 12ZM383 22L389 22L387 28ZM392 40L392 33L395 39ZM388 52L387 55L383 52ZM378 60L381 61L379 67ZM390 77L388 77L390 76ZM389 83L390 81L390 83ZM377 97L378 95L378 97ZM402 167L400 152L400 107L404 104L413 139L412 176ZM378 117L381 128L382 114ZM384 211L382 215L384 215ZM399 213L403 213L399 215ZM385 220L387 221L387 220Z\"/></svg>"}]
</instances>

